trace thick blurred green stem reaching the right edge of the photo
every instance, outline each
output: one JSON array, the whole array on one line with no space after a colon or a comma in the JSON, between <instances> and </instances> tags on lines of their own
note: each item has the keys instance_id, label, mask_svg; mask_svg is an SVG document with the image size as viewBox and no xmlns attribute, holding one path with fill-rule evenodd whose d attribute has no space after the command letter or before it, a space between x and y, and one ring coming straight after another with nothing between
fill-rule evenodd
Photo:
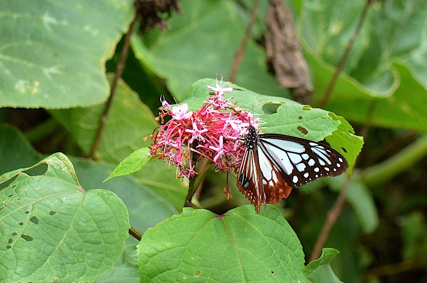
<instances>
[{"instance_id":1,"label":"thick blurred green stem reaching the right edge of the photo","mask_svg":"<svg viewBox=\"0 0 427 283\"><path fill-rule=\"evenodd\" d=\"M427 136L422 136L389 159L360 171L367 185L383 183L427 155Z\"/></svg>"}]
</instances>

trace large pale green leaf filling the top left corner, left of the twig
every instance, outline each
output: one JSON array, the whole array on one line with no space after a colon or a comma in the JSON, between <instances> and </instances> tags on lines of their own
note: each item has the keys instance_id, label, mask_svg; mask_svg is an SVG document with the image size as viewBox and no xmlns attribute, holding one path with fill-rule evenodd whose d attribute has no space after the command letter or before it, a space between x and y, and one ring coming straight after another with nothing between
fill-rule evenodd
<instances>
[{"instance_id":1,"label":"large pale green leaf filling the top left corner, left of the twig","mask_svg":"<svg viewBox=\"0 0 427 283\"><path fill-rule=\"evenodd\" d=\"M107 99L104 63L132 19L132 0L1 0L0 7L0 107L68 108Z\"/></svg>"}]
</instances>

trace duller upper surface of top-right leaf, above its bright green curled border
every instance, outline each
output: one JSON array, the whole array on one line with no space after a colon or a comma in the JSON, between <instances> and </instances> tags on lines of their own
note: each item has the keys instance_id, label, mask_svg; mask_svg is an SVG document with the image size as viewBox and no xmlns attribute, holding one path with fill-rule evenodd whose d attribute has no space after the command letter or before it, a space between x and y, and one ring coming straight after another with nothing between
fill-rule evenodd
<instances>
[{"instance_id":1,"label":"duller upper surface of top-right leaf, above its bright green curled border","mask_svg":"<svg viewBox=\"0 0 427 283\"><path fill-rule=\"evenodd\" d=\"M307 46L334 66L353 36L366 1L342 5L337 0L307 0L300 18L300 34ZM330 9L334 7L334 9ZM407 61L427 86L427 2L396 0L373 2L361 33L349 54L344 71L366 86L372 94L390 95L399 84L391 67L397 57ZM424 56L424 57L423 57Z\"/></svg>"}]
</instances>

